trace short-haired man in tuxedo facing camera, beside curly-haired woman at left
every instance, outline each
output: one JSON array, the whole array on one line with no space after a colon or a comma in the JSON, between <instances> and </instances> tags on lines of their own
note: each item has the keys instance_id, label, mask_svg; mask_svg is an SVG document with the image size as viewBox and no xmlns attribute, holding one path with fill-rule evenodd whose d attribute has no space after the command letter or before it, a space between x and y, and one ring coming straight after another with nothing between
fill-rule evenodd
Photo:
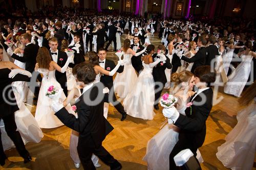
<instances>
[{"instance_id":1,"label":"short-haired man in tuxedo facing camera, beside curly-haired woman at left","mask_svg":"<svg viewBox=\"0 0 256 170\"><path fill-rule=\"evenodd\" d=\"M49 39L49 46L50 46L50 55L52 56L52 60L56 62L60 67L63 67L68 59L68 56L65 52L61 52L58 50L58 40L57 38L53 37ZM69 67L74 67L74 64L69 64ZM67 89L67 76L66 72L59 72L55 71L55 77L57 82L59 82L63 92L66 96L68 96L68 89Z\"/></svg>"}]
</instances>

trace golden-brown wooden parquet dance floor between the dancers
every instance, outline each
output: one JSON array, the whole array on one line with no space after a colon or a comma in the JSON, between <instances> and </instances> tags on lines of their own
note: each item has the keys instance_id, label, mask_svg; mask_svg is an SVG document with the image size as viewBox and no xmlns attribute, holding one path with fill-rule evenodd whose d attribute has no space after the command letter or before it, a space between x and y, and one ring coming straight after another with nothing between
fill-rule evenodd
<instances>
[{"instance_id":1,"label":"golden-brown wooden parquet dance floor between the dancers","mask_svg":"<svg viewBox=\"0 0 256 170\"><path fill-rule=\"evenodd\" d=\"M122 41L124 37L122 36ZM160 44L159 39L152 38L152 43L156 46ZM108 58L118 60L114 52L108 52ZM166 90L164 90L165 92ZM207 119L207 134L203 146L199 149L204 162L202 169L227 169L217 159L217 147L225 142L225 136L237 124L236 114L242 109L238 105L238 99L223 93L220 88L217 99L223 98L221 102L214 105ZM146 162L142 161L146 153L146 144L160 128L164 122L162 108L156 111L154 120L143 120L127 116L121 122L121 115L114 107L109 107L108 120L115 128L103 141L103 146L120 163L122 169L146 170ZM35 109L32 110L32 114ZM65 126L55 129L43 129L44 138L39 143L28 143L26 148L30 152L33 160L24 164L15 149L6 151L9 161L0 169L76 169L69 154L69 141L71 130ZM167 158L168 159L168 158ZM98 170L110 169L102 164ZM80 167L79 169L83 169ZM254 168L256 169L256 168Z\"/></svg>"}]
</instances>

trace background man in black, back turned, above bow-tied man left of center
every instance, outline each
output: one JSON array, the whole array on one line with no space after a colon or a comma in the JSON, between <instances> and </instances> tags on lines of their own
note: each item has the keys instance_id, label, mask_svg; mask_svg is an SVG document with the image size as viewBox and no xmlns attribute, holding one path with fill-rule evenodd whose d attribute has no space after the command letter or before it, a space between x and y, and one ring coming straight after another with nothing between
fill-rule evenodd
<instances>
[{"instance_id":1,"label":"background man in black, back turned, above bow-tied man left of center","mask_svg":"<svg viewBox=\"0 0 256 170\"><path fill-rule=\"evenodd\" d=\"M105 27L104 23L100 23L99 30L95 30L92 32L92 35L97 35L97 39L96 39L97 51L99 50L99 48L104 47L105 39L106 41L109 40L109 37L106 35L104 27Z\"/></svg>"}]
</instances>

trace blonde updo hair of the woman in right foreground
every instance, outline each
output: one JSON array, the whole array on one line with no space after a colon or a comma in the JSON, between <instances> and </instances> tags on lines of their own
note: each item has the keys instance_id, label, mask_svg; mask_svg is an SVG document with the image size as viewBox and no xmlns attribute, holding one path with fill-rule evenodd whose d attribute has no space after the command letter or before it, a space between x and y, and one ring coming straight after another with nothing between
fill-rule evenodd
<instances>
[{"instance_id":1,"label":"blonde updo hair of the woman in right foreground","mask_svg":"<svg viewBox=\"0 0 256 170\"><path fill-rule=\"evenodd\" d=\"M181 84L181 86L185 86L185 84L182 84L183 82L188 82L191 77L193 77L193 73L188 70L183 70L181 72L175 72L170 76L170 81L175 83L175 86Z\"/></svg>"}]
</instances>

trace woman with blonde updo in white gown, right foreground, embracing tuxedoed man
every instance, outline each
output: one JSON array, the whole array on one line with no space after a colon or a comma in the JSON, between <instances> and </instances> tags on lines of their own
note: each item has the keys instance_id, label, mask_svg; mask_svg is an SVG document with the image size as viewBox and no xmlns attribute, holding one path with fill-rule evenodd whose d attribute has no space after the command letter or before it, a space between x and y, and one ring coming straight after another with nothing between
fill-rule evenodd
<instances>
[{"instance_id":1,"label":"woman with blonde updo in white gown, right foreground, embracing tuxedoed man","mask_svg":"<svg viewBox=\"0 0 256 170\"><path fill-rule=\"evenodd\" d=\"M194 75L187 70L180 73L175 72L172 75L172 82L176 83L177 91L174 95L178 102L176 108L179 113L185 115L186 104L190 97L195 93L192 91L194 86ZM143 160L147 162L148 170L167 170L169 169L169 154L172 152L175 144L179 140L179 128L175 125L165 125L152 139L147 142L146 155ZM202 162L200 152L197 152L197 158Z\"/></svg>"}]
</instances>

